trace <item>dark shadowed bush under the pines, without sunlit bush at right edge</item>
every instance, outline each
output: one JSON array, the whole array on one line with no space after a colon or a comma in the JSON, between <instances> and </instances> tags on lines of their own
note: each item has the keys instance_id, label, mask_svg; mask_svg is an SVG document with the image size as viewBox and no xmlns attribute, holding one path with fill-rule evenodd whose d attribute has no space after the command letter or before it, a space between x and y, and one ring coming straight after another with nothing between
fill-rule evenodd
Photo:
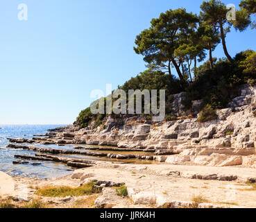
<instances>
[{"instance_id":1,"label":"dark shadowed bush under the pines, without sunlit bush at right edge","mask_svg":"<svg viewBox=\"0 0 256 222\"><path fill-rule=\"evenodd\" d=\"M239 56L238 56L239 57ZM243 69L232 65L226 60L214 63L214 68L208 68L208 62L198 68L198 76L193 85L187 87L185 107L189 109L189 101L203 99L204 104L212 108L225 108L231 96L238 95L237 87L246 83ZM183 102L184 103L184 102Z\"/></svg>"}]
</instances>

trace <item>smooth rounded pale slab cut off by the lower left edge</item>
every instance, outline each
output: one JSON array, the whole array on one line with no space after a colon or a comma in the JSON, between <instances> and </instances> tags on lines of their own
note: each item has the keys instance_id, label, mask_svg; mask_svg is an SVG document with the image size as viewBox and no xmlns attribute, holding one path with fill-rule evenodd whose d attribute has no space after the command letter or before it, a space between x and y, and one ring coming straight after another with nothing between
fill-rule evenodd
<instances>
[{"instance_id":1,"label":"smooth rounded pale slab cut off by the lower left edge","mask_svg":"<svg viewBox=\"0 0 256 222\"><path fill-rule=\"evenodd\" d=\"M10 195L15 191L15 182L6 173L0 171L0 196Z\"/></svg>"}]
</instances>

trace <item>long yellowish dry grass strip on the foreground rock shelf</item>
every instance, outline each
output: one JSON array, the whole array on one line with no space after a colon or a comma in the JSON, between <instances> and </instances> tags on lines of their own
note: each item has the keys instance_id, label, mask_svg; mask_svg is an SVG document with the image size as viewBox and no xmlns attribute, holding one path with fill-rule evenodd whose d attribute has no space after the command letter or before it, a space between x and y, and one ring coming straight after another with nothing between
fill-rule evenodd
<instances>
[{"instance_id":1,"label":"long yellowish dry grass strip on the foreground rock shelf","mask_svg":"<svg viewBox=\"0 0 256 222\"><path fill-rule=\"evenodd\" d=\"M95 187L94 182L87 182L82 187L44 187L42 189L38 189L35 194L38 196L65 197L99 194L100 192L101 189Z\"/></svg>"}]
</instances>

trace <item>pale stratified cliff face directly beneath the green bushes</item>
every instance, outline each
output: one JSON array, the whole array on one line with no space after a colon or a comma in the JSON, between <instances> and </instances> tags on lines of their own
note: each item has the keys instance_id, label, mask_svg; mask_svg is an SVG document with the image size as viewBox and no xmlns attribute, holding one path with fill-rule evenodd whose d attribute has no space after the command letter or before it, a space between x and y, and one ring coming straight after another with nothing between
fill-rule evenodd
<instances>
[{"instance_id":1,"label":"pale stratified cliff face directly beneath the green bushes","mask_svg":"<svg viewBox=\"0 0 256 222\"><path fill-rule=\"evenodd\" d=\"M173 95L171 109L181 113L184 94ZM76 144L118 146L120 148L157 149L158 160L172 164L192 162L208 166L244 165L256 167L256 87L243 85L241 96L218 110L214 121L198 123L197 118L147 123L135 118L108 119L105 129L73 131ZM194 101L192 110L200 101ZM146 123L145 123L146 122ZM58 135L61 138L61 133ZM174 155L175 154L175 155Z\"/></svg>"}]
</instances>

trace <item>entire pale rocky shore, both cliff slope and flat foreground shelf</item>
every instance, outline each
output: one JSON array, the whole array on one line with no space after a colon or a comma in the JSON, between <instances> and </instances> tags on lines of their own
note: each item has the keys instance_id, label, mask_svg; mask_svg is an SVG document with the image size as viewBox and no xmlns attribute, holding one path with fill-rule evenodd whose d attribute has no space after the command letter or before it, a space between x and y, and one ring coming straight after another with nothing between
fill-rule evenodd
<instances>
[{"instance_id":1,"label":"entire pale rocky shore, both cliff slope and flat foreground shelf","mask_svg":"<svg viewBox=\"0 0 256 222\"><path fill-rule=\"evenodd\" d=\"M176 121L151 123L136 116L108 117L104 127L95 128L92 123L83 129L51 129L33 139L10 138L8 148L33 152L15 155L14 164L51 161L76 169L63 178L14 178L15 182L79 187L94 181L103 190L91 207L256 207L256 192L251 187L256 182L256 87L243 85L241 96L232 99L229 108L218 110L216 120L205 123L196 118L201 101L194 101L191 114L182 116L184 96L173 95L171 108L178 115ZM51 148L53 144L59 148ZM110 184L126 185L128 196L120 198ZM230 189L232 198L227 196ZM33 198L35 190L30 192ZM200 195L205 196L205 202L195 203ZM70 207L76 200L74 196L59 198L58 204L50 207Z\"/></svg>"}]
</instances>

